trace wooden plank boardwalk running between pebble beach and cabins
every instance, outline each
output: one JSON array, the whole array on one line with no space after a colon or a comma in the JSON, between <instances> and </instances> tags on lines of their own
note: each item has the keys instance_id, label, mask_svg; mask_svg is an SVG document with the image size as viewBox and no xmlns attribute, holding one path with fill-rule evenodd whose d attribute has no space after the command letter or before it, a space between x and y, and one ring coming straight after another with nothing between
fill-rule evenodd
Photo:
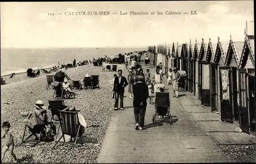
<instances>
[{"instance_id":1,"label":"wooden plank boardwalk running between pebble beach and cabins","mask_svg":"<svg viewBox=\"0 0 256 164\"><path fill-rule=\"evenodd\" d=\"M127 72L123 75L127 77ZM230 162L217 143L184 110L181 104L185 96L173 98L170 90L171 115L178 117L172 125L168 120L153 125L154 105L148 104L146 127L142 131L135 130L132 99L128 98L127 88L125 96L124 110L114 111L111 116L98 163Z\"/></svg>"}]
</instances>

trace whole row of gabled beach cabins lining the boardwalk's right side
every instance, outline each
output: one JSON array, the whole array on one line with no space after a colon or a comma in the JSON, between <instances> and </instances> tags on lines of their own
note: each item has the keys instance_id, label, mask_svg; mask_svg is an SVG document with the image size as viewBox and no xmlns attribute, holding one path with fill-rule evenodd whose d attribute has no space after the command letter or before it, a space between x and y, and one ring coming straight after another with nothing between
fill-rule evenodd
<instances>
[{"instance_id":1,"label":"whole row of gabled beach cabins lining the boardwalk's right side","mask_svg":"<svg viewBox=\"0 0 256 164\"><path fill-rule=\"evenodd\" d=\"M187 74L185 90L194 93L202 106L220 113L221 120L236 123L255 135L254 34L245 40L217 44L202 39L195 43L148 46L150 65L163 64L163 73L177 67Z\"/></svg>"}]
</instances>

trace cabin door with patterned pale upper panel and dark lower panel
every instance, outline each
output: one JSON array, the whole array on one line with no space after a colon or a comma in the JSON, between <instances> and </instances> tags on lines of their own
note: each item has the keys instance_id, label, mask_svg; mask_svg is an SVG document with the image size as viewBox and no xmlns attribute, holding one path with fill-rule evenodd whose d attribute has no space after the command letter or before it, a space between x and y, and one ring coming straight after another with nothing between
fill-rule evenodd
<instances>
[{"instance_id":1,"label":"cabin door with patterned pale upper panel and dark lower panel","mask_svg":"<svg viewBox=\"0 0 256 164\"><path fill-rule=\"evenodd\" d=\"M221 121L233 123L232 87L229 67L220 67Z\"/></svg>"}]
</instances>

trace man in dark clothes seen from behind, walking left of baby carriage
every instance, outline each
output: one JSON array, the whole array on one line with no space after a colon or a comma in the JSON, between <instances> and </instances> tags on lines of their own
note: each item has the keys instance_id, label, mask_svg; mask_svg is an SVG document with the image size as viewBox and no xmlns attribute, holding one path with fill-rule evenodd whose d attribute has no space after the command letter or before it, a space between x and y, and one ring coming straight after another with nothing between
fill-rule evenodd
<instances>
[{"instance_id":1,"label":"man in dark clothes seen from behind, walking left of baby carriage","mask_svg":"<svg viewBox=\"0 0 256 164\"><path fill-rule=\"evenodd\" d=\"M148 87L143 83L143 76L136 76L136 84L133 85L133 106L136 122L136 130L142 130L144 127L144 118L146 113L146 99L148 98Z\"/></svg>"}]
</instances>

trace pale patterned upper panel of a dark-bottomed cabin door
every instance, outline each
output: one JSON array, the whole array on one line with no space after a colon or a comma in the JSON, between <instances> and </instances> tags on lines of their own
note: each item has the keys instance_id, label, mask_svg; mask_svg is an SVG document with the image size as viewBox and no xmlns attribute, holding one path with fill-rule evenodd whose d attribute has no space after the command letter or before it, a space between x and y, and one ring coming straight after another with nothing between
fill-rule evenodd
<instances>
[{"instance_id":1,"label":"pale patterned upper panel of a dark-bottomed cabin door","mask_svg":"<svg viewBox=\"0 0 256 164\"><path fill-rule=\"evenodd\" d=\"M222 82L222 99L229 100L229 80L228 69L221 69L221 82Z\"/></svg>"}]
</instances>

